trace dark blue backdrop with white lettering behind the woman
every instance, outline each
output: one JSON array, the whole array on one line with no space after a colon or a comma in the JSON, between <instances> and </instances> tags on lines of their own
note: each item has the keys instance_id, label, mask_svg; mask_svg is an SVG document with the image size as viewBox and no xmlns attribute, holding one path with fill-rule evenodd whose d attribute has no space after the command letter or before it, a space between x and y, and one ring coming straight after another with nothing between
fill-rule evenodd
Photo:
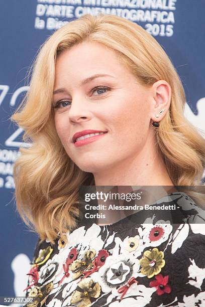
<instances>
[{"instance_id":1,"label":"dark blue backdrop with white lettering behind the woman","mask_svg":"<svg viewBox=\"0 0 205 307\"><path fill-rule=\"evenodd\" d=\"M90 13L113 14L143 26L165 49L183 82L185 114L205 130L204 0L2 0L0 3L0 296L24 295L37 235L15 210L13 164L22 129L10 122L28 90L25 76L39 46L57 28ZM16 305L18 306L18 305Z\"/></svg>"}]
</instances>

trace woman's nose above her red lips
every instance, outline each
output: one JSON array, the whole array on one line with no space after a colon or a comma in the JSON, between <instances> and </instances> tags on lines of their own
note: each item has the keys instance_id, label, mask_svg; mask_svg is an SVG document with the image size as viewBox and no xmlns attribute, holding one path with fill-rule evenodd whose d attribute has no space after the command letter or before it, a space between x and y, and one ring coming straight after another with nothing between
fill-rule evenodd
<instances>
[{"instance_id":1,"label":"woman's nose above her red lips","mask_svg":"<svg viewBox=\"0 0 205 307\"><path fill-rule=\"evenodd\" d=\"M68 116L69 121L72 124L90 120L92 117L91 111L89 111L88 104L86 103L85 99L82 97L72 99Z\"/></svg>"}]
</instances>

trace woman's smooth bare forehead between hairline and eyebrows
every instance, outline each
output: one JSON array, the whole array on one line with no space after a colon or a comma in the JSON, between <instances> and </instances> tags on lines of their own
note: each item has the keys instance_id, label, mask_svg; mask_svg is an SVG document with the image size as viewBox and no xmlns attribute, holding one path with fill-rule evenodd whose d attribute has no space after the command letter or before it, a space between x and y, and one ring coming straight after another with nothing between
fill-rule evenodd
<instances>
[{"instance_id":1,"label":"woman's smooth bare forehead between hairline and eyebrows","mask_svg":"<svg viewBox=\"0 0 205 307\"><path fill-rule=\"evenodd\" d=\"M82 42L60 52L56 61L56 82L68 76L75 80L92 74L125 74L120 54L101 43Z\"/></svg>"}]
</instances>

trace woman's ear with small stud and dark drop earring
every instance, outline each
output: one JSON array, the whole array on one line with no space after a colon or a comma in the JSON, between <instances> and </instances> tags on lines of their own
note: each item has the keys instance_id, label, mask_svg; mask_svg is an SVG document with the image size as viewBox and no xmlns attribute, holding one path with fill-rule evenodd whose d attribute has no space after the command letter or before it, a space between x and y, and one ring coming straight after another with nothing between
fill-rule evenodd
<instances>
[{"instance_id":1,"label":"woman's ear with small stud and dark drop earring","mask_svg":"<svg viewBox=\"0 0 205 307\"><path fill-rule=\"evenodd\" d=\"M151 119L160 121L169 109L171 103L171 87L165 80L159 80L152 85L153 104Z\"/></svg>"}]
</instances>

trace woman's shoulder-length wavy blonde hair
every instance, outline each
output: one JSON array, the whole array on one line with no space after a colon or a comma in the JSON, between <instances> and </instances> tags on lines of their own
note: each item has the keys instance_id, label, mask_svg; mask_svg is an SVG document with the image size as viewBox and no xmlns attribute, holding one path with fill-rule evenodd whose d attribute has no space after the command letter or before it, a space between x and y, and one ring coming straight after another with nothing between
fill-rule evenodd
<instances>
[{"instance_id":1,"label":"woman's shoulder-length wavy blonde hair","mask_svg":"<svg viewBox=\"0 0 205 307\"><path fill-rule=\"evenodd\" d=\"M51 107L58 54L83 41L115 50L142 84L166 80L172 96L156 137L175 186L199 184L205 166L205 140L184 117L185 94L169 57L142 27L113 15L85 15L51 35L32 66L30 90L11 119L25 131L30 147L21 147L14 166L17 209L41 240L54 243L76 225L80 185L94 185L68 157L57 135Z\"/></svg>"}]
</instances>

